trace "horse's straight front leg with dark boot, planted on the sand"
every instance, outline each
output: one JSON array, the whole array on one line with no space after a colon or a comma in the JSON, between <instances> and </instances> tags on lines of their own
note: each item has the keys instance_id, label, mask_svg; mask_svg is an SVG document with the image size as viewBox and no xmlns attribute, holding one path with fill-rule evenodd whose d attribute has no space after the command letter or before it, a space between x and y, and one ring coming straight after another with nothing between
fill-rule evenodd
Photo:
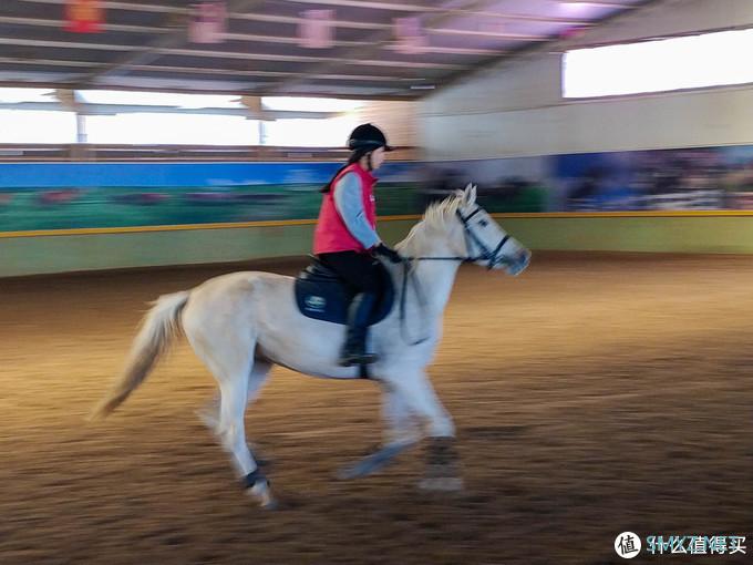
<instances>
[{"instance_id":1,"label":"horse's straight front leg with dark boot, planted on the sand","mask_svg":"<svg viewBox=\"0 0 753 565\"><path fill-rule=\"evenodd\" d=\"M447 411L440 402L426 373L416 371L402 374L390 381L400 401L426 427L429 444L426 446L427 466L424 479L419 486L432 491L460 491L463 479L457 465L455 451L455 425Z\"/></svg>"}]
</instances>

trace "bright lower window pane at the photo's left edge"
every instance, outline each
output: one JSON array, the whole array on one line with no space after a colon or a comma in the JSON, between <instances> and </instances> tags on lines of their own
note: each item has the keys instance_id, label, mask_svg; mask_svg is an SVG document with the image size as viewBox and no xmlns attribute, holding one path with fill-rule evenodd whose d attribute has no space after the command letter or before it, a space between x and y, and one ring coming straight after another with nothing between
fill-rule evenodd
<instances>
[{"instance_id":1,"label":"bright lower window pane at the photo's left edge","mask_svg":"<svg viewBox=\"0 0 753 565\"><path fill-rule=\"evenodd\" d=\"M52 110L0 110L0 143L75 143L75 114Z\"/></svg>"}]
</instances>

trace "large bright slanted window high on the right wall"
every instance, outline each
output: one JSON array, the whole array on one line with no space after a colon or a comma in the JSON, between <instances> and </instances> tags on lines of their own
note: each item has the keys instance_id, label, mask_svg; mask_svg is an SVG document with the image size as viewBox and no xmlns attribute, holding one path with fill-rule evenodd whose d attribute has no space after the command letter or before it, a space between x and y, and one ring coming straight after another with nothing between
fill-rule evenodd
<instances>
[{"instance_id":1,"label":"large bright slanted window high on the right wall","mask_svg":"<svg viewBox=\"0 0 753 565\"><path fill-rule=\"evenodd\" d=\"M753 82L753 29L568 51L565 97L615 96Z\"/></svg>"}]
</instances>

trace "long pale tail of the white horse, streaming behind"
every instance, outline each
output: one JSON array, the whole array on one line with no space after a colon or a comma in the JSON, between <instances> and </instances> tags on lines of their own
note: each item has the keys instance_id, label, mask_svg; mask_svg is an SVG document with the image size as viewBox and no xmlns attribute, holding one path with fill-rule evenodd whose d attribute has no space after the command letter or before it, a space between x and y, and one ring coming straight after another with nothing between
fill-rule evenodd
<instances>
[{"instance_id":1,"label":"long pale tail of the white horse, streaming behind","mask_svg":"<svg viewBox=\"0 0 753 565\"><path fill-rule=\"evenodd\" d=\"M180 312L188 301L187 290L161 296L144 316L141 329L131 347L131 353L121 378L107 396L89 417L90 421L102 420L123 403L146 379L159 357L165 353L175 338L183 333Z\"/></svg>"}]
</instances>

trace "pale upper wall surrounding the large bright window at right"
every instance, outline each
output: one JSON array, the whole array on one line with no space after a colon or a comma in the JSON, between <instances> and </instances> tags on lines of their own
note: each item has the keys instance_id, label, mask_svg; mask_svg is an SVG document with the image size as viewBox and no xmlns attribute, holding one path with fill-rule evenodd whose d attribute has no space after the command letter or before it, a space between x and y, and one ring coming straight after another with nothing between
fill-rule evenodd
<instances>
[{"instance_id":1,"label":"pale upper wall surrounding the large bright window at right","mask_svg":"<svg viewBox=\"0 0 753 565\"><path fill-rule=\"evenodd\" d=\"M570 47L730 27L753 27L753 0L667 0ZM741 64L750 56L740 53ZM419 121L429 158L751 144L753 86L564 100L560 56L543 51L437 92L419 106Z\"/></svg>"}]
</instances>

